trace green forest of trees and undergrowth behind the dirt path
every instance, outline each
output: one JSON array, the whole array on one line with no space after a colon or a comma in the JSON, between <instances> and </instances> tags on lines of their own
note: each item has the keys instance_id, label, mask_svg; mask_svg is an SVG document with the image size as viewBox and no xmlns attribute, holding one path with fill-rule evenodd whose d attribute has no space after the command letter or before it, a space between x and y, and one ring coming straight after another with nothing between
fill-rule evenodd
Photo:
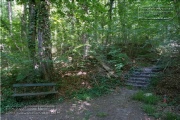
<instances>
[{"instance_id":1,"label":"green forest of trees and undergrowth behind the dirt path","mask_svg":"<svg viewBox=\"0 0 180 120\"><path fill-rule=\"evenodd\" d=\"M2 113L20 104L13 84L56 83L53 100L86 100L150 66L161 70L147 89L180 104L179 0L1 0L0 8Z\"/></svg>"}]
</instances>

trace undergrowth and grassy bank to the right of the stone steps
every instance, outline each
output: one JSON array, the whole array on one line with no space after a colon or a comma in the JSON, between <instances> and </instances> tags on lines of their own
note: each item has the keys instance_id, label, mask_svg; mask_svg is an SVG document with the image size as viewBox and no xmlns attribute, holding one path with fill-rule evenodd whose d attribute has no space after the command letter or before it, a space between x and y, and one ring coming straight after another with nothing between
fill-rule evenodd
<instances>
[{"instance_id":1,"label":"undergrowth and grassy bank to the right of the stone steps","mask_svg":"<svg viewBox=\"0 0 180 120\"><path fill-rule=\"evenodd\" d=\"M141 101L142 110L156 119L180 120L180 57L171 55L161 57L157 65L162 71L152 78L147 90L132 98Z\"/></svg>"}]
</instances>

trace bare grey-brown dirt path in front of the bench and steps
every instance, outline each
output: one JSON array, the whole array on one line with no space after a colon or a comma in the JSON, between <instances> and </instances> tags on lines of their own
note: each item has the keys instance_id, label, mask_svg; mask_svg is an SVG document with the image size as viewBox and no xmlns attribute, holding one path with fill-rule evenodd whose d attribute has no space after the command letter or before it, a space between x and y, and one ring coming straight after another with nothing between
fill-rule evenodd
<instances>
[{"instance_id":1,"label":"bare grey-brown dirt path in front of the bench and steps","mask_svg":"<svg viewBox=\"0 0 180 120\"><path fill-rule=\"evenodd\" d=\"M2 115L2 120L154 120L130 97L137 92L119 90L89 101L69 101L58 105L27 106Z\"/></svg>"}]
</instances>

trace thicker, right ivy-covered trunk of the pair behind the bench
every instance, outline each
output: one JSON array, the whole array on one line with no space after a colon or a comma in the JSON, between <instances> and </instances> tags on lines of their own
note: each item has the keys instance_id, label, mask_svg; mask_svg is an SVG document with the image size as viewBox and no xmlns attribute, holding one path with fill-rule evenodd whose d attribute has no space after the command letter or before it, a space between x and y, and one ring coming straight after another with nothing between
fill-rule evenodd
<instances>
[{"instance_id":1,"label":"thicker, right ivy-covered trunk of the pair behind the bench","mask_svg":"<svg viewBox=\"0 0 180 120\"><path fill-rule=\"evenodd\" d=\"M49 14L49 0L41 1L38 5L38 49L42 77L48 81L53 79Z\"/></svg>"}]
</instances>

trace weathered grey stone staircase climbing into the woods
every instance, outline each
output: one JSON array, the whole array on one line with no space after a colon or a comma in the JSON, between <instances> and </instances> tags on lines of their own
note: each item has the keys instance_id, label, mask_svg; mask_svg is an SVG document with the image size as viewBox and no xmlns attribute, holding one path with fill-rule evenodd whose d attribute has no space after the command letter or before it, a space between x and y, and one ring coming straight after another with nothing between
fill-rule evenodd
<instances>
[{"instance_id":1,"label":"weathered grey stone staircase climbing into the woods","mask_svg":"<svg viewBox=\"0 0 180 120\"><path fill-rule=\"evenodd\" d=\"M129 73L126 85L146 88L150 84L151 78L155 77L161 70L162 68L156 66L136 68Z\"/></svg>"}]
</instances>

